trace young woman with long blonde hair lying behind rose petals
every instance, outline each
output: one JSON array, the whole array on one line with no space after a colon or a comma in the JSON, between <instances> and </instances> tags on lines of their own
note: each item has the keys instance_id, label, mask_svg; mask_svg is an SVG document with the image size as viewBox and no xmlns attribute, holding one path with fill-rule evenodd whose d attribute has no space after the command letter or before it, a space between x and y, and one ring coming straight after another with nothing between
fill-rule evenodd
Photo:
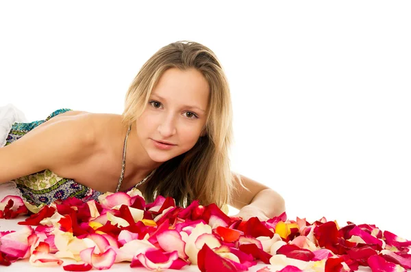
<instances>
[{"instance_id":1,"label":"young woman with long blonde hair lying behind rose petals","mask_svg":"<svg viewBox=\"0 0 411 272\"><path fill-rule=\"evenodd\" d=\"M0 148L0 183L12 180L37 205L136 187L147 202L163 195L179 206L229 204L244 219L284 212L278 193L230 172L232 138L219 60L202 44L175 42L142 66L122 115L60 109L15 123Z\"/></svg>"}]
</instances>

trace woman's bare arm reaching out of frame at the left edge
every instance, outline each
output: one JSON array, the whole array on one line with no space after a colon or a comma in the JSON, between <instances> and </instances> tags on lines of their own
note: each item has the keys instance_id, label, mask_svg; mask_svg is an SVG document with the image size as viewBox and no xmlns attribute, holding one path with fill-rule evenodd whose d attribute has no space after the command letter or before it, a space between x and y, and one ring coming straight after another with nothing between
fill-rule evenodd
<instances>
[{"instance_id":1,"label":"woman's bare arm reaching out of frame at the left edge","mask_svg":"<svg viewBox=\"0 0 411 272\"><path fill-rule=\"evenodd\" d=\"M94 138L89 126L86 118L45 122L0 148L0 183L81 160Z\"/></svg>"}]
</instances>

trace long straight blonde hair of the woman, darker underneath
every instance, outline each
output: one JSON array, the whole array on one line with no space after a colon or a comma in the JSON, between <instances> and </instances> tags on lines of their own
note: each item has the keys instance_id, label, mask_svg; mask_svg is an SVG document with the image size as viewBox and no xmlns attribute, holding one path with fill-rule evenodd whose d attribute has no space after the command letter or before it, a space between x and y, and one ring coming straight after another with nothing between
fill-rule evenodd
<instances>
[{"instance_id":1,"label":"long straight blonde hair of the woman, darker underneath","mask_svg":"<svg viewBox=\"0 0 411 272\"><path fill-rule=\"evenodd\" d=\"M216 55L197 42L179 41L162 47L142 66L125 96L123 123L132 124L148 104L153 87L169 68L194 68L210 86L206 135L195 146L158 167L147 180L147 202L171 196L178 206L192 200L222 207L232 198L233 174L229 147L233 141L232 103L229 84ZM238 177L237 177L238 178Z\"/></svg>"}]
</instances>

